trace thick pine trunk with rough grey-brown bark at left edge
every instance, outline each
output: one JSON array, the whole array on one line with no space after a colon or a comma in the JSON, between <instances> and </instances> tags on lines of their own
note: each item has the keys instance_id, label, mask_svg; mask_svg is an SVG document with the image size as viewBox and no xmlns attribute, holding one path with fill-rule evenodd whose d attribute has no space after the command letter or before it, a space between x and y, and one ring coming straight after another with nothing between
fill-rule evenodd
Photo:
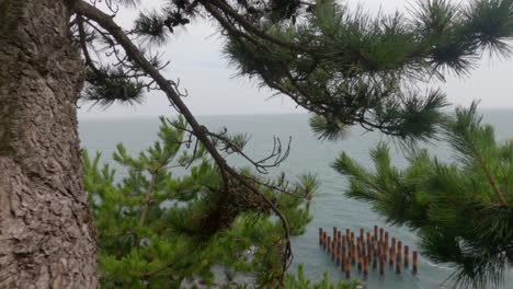
<instances>
[{"instance_id":1,"label":"thick pine trunk with rough grey-brown bark at left edge","mask_svg":"<svg viewBox=\"0 0 513 289\"><path fill-rule=\"evenodd\" d=\"M98 288L67 5L0 0L0 288Z\"/></svg>"}]
</instances>

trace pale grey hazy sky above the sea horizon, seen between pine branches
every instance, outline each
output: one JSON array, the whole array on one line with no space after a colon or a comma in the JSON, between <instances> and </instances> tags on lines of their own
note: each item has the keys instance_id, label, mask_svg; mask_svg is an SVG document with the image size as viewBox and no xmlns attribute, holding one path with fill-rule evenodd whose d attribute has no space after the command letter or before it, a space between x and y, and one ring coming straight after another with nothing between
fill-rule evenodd
<instances>
[{"instance_id":1,"label":"pale grey hazy sky above the sea horizon, seen between pine branches","mask_svg":"<svg viewBox=\"0 0 513 289\"><path fill-rule=\"evenodd\" d=\"M145 0L145 9L158 5L161 0ZM458 1L460 2L460 1ZM404 10L412 1L407 0L362 0L349 1L371 11L381 9L392 12ZM118 23L130 26L136 11L123 12L116 18ZM185 99L191 111L197 115L224 114L275 114L301 113L286 96L274 96L267 89L259 89L254 81L235 78L236 70L228 66L221 54L223 39L213 22L197 22L180 31L169 45L159 50L171 61L164 71L166 77L180 79L181 88L186 89ZM513 59L491 59L485 57L480 67L467 78L448 77L446 83L438 83L454 104L468 104L481 100L481 107L513 107ZM80 118L133 117L170 115L172 112L163 93L146 96L140 105L112 105L104 109L82 104Z\"/></svg>"}]
</instances>

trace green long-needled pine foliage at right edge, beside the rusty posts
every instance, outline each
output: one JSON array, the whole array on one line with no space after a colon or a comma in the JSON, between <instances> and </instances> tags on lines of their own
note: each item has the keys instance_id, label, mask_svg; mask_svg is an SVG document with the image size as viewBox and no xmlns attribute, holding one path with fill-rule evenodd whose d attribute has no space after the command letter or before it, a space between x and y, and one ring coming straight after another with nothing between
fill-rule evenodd
<instances>
[{"instance_id":1,"label":"green long-needled pine foliage at right edge, beside the rusty posts","mask_svg":"<svg viewBox=\"0 0 513 289\"><path fill-rule=\"evenodd\" d=\"M342 153L333 167L350 177L345 195L372 204L388 222L418 232L422 253L456 268L456 287L492 288L513 264L513 142L499 142L476 105L444 125L453 162L426 150L391 165L389 149L371 151L374 170Z\"/></svg>"}]
</instances>

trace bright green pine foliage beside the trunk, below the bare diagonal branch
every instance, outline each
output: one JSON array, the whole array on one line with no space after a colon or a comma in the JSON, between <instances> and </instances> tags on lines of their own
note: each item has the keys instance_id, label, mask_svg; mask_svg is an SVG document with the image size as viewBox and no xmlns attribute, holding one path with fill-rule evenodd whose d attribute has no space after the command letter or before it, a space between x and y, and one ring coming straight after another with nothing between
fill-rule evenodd
<instances>
[{"instance_id":1,"label":"bright green pine foliage beside the trunk, below the bare diagonal branch","mask_svg":"<svg viewBox=\"0 0 513 289\"><path fill-rule=\"evenodd\" d=\"M231 201L219 199L219 171L201 146L194 154L192 147L187 149L181 129L185 127L183 118L161 118L158 140L137 155L118 144L113 157L124 175L101 165L100 153L93 158L83 153L103 288L180 288L192 280L213 285L215 268L221 268L218 271L228 280L241 275L273 288L282 270L280 220L236 183ZM293 196L280 192L283 180L241 172L265 184L259 189L286 216L290 234L304 233L311 220L314 176L300 176Z\"/></svg>"}]
</instances>

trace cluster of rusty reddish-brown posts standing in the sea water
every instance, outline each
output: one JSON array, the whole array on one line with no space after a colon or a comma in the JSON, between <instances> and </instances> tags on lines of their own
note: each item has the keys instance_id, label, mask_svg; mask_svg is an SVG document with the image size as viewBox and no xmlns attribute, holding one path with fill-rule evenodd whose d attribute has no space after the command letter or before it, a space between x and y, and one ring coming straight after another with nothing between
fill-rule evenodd
<instances>
[{"instance_id":1,"label":"cluster of rusty reddish-brown posts standing in the sea water","mask_svg":"<svg viewBox=\"0 0 513 289\"><path fill-rule=\"evenodd\" d=\"M396 242L397 241L397 242ZM379 264L379 275L385 275L385 264L388 261L390 268L396 274L401 274L402 266L408 269L410 264L410 247L402 246L402 242L391 238L388 240L388 232L383 228L374 226L374 234L364 232L360 229L360 236L356 236L350 229L345 229L345 234L333 227L333 235L319 228L319 245L331 255L332 259L341 270L345 273L346 278L351 278L351 267L357 264L357 270L363 273L364 278L368 276L368 267L372 264L374 270ZM403 261L403 262L402 262ZM419 256L417 251L412 252L412 273L419 270Z\"/></svg>"}]
</instances>

